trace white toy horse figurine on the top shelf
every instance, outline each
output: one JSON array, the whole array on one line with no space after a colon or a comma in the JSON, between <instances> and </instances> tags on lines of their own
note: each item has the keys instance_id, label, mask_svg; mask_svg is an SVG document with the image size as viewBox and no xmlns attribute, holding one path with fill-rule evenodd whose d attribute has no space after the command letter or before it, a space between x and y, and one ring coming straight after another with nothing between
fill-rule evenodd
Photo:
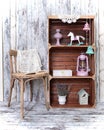
<instances>
[{"instance_id":1,"label":"white toy horse figurine on the top shelf","mask_svg":"<svg viewBox=\"0 0 104 130\"><path fill-rule=\"evenodd\" d=\"M69 32L69 34L67 36L71 37L71 42L68 44L69 46L72 45L73 41L78 41L78 45L84 44L83 42L80 42L80 38L82 40L85 40L85 38L83 36L80 36L80 35L79 36L78 35L74 36L74 34L72 32Z\"/></svg>"}]
</instances>

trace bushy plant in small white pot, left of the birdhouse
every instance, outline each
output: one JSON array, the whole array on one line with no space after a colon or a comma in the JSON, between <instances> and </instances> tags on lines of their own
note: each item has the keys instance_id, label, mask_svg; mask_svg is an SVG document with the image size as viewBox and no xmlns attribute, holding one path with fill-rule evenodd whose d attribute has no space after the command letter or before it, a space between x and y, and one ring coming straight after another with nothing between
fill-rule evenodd
<instances>
[{"instance_id":1,"label":"bushy plant in small white pot, left of the birdhouse","mask_svg":"<svg viewBox=\"0 0 104 130\"><path fill-rule=\"evenodd\" d=\"M67 84L57 84L58 102L60 105L64 105L66 97L69 93L70 86Z\"/></svg>"}]
</instances>

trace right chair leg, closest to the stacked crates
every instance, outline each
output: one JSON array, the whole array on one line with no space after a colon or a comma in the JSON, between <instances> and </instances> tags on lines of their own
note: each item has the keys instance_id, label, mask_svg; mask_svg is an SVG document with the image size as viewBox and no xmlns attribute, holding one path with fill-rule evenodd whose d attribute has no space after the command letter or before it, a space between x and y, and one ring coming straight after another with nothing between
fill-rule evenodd
<instances>
[{"instance_id":1,"label":"right chair leg, closest to the stacked crates","mask_svg":"<svg viewBox=\"0 0 104 130\"><path fill-rule=\"evenodd\" d=\"M47 108L47 110L49 110L49 103L48 103L48 97L47 97L47 86L48 86L48 79L47 79L47 77L44 77L43 78L43 83L44 83L44 96L45 96L45 104L46 104L46 108Z\"/></svg>"}]
</instances>

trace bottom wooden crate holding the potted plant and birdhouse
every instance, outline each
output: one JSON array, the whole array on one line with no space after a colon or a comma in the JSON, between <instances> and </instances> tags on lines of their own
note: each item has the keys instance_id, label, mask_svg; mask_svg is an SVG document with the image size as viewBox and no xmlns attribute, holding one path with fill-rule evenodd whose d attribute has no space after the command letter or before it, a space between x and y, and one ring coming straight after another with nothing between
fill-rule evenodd
<instances>
[{"instance_id":1,"label":"bottom wooden crate holding the potted plant and birdhouse","mask_svg":"<svg viewBox=\"0 0 104 130\"><path fill-rule=\"evenodd\" d=\"M93 79L54 79L50 81L50 105L52 107L67 108L67 107L94 107L95 106L95 83ZM65 105L59 105L58 103L58 93L57 84L64 83L71 86ZM88 105L80 105L78 92L82 88L90 95Z\"/></svg>"}]
</instances>

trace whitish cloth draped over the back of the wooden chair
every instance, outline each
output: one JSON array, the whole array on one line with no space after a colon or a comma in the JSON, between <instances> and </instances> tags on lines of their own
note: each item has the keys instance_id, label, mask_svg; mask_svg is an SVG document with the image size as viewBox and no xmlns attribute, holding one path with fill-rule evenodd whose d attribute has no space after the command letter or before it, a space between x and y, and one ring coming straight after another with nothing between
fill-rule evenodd
<instances>
[{"instance_id":1,"label":"whitish cloth draped over the back of the wooden chair","mask_svg":"<svg viewBox=\"0 0 104 130\"><path fill-rule=\"evenodd\" d=\"M41 58L37 49L17 51L17 72L25 74L41 71Z\"/></svg>"}]
</instances>

